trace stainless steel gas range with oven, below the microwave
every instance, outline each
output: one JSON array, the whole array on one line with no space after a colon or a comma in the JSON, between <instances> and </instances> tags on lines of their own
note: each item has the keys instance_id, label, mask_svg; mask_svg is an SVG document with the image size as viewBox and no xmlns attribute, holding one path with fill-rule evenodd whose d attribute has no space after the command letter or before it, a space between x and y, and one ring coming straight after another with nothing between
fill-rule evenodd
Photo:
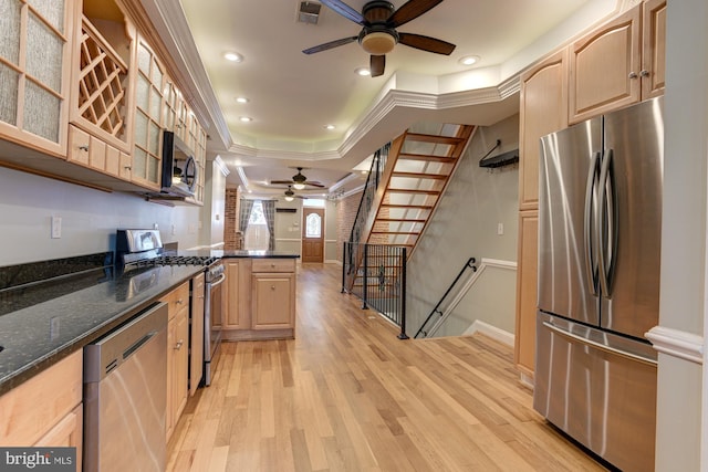
<instances>
[{"instance_id":1,"label":"stainless steel gas range with oven, below the microwave","mask_svg":"<svg viewBox=\"0 0 708 472\"><path fill-rule=\"evenodd\" d=\"M202 265L205 268L204 307L204 384L211 385L221 344L219 319L222 318L223 282L226 271L219 258L198 253L175 253L164 249L158 230L118 230L116 233L116 264L124 275L135 275L131 286L136 290L150 283L154 271L165 265ZM133 281L136 281L133 284ZM194 296L194 295L192 295ZM215 323L216 322L216 323ZM190 316L190 326L194 319Z\"/></svg>"}]
</instances>

